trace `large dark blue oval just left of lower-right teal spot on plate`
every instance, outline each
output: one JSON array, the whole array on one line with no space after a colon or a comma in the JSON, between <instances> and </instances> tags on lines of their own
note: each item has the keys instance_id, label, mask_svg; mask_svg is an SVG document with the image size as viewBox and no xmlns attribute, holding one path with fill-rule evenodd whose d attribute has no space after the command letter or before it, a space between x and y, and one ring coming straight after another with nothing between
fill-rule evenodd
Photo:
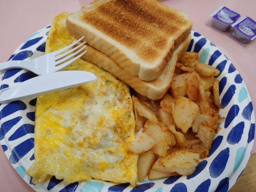
<instances>
[{"instance_id":1,"label":"large dark blue oval just left of lower-right teal spot on plate","mask_svg":"<svg viewBox=\"0 0 256 192\"><path fill-rule=\"evenodd\" d=\"M220 151L219 154L213 159L209 167L211 177L219 177L219 175L224 171L229 159L229 152L230 149L227 147L226 149Z\"/></svg>"}]
</instances>

